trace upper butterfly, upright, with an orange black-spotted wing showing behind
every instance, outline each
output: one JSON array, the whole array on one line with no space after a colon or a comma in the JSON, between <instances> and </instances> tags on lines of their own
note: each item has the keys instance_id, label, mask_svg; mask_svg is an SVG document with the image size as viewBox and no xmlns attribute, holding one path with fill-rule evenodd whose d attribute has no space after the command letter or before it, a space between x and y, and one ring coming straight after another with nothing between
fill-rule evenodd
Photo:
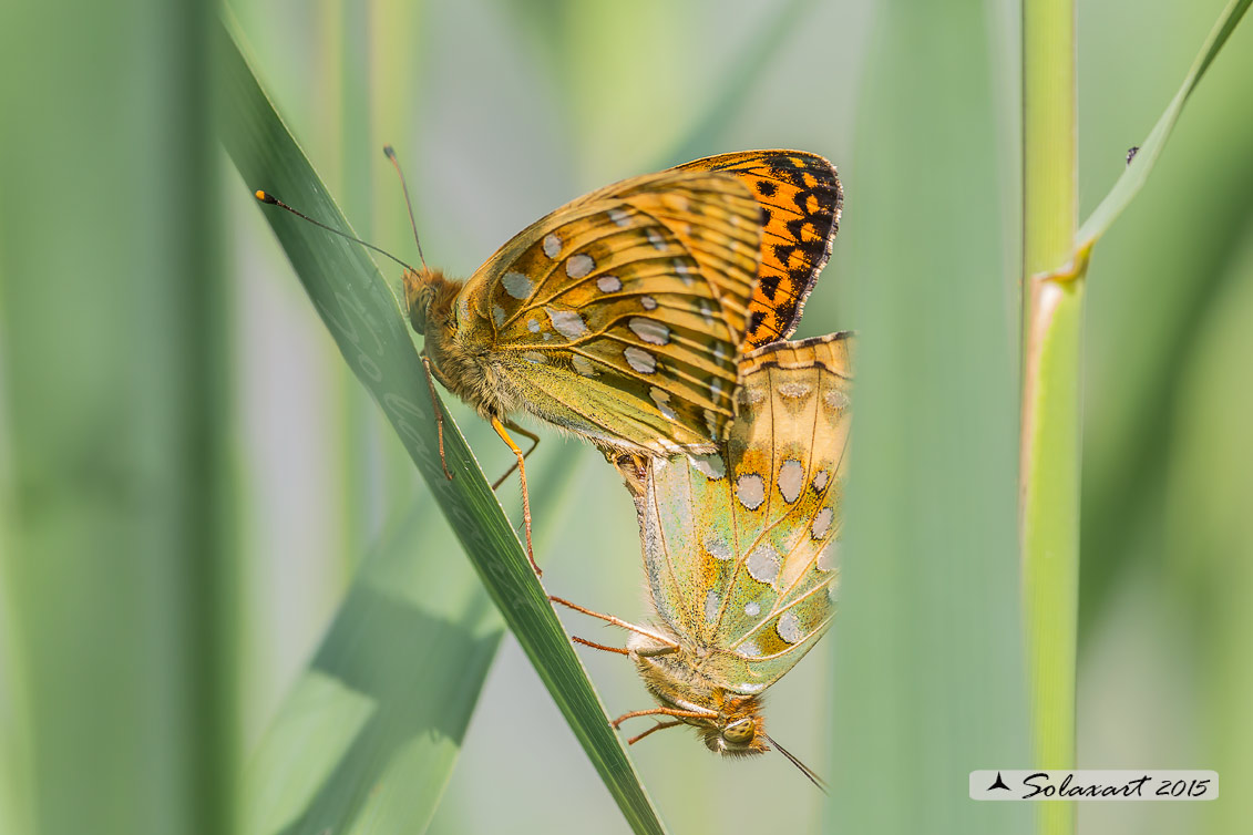
<instances>
[{"instance_id":1,"label":"upper butterfly, upright, with an orange black-spotted wing showing behind","mask_svg":"<svg viewBox=\"0 0 1253 835\"><path fill-rule=\"evenodd\" d=\"M530 451L507 429L531 449L539 438L510 416L635 462L624 473L654 456L713 452L734 414L738 357L796 328L841 208L836 169L821 156L724 154L568 203L464 282L425 262L405 272L429 381L472 406L516 457L536 573Z\"/></svg>"}]
</instances>

